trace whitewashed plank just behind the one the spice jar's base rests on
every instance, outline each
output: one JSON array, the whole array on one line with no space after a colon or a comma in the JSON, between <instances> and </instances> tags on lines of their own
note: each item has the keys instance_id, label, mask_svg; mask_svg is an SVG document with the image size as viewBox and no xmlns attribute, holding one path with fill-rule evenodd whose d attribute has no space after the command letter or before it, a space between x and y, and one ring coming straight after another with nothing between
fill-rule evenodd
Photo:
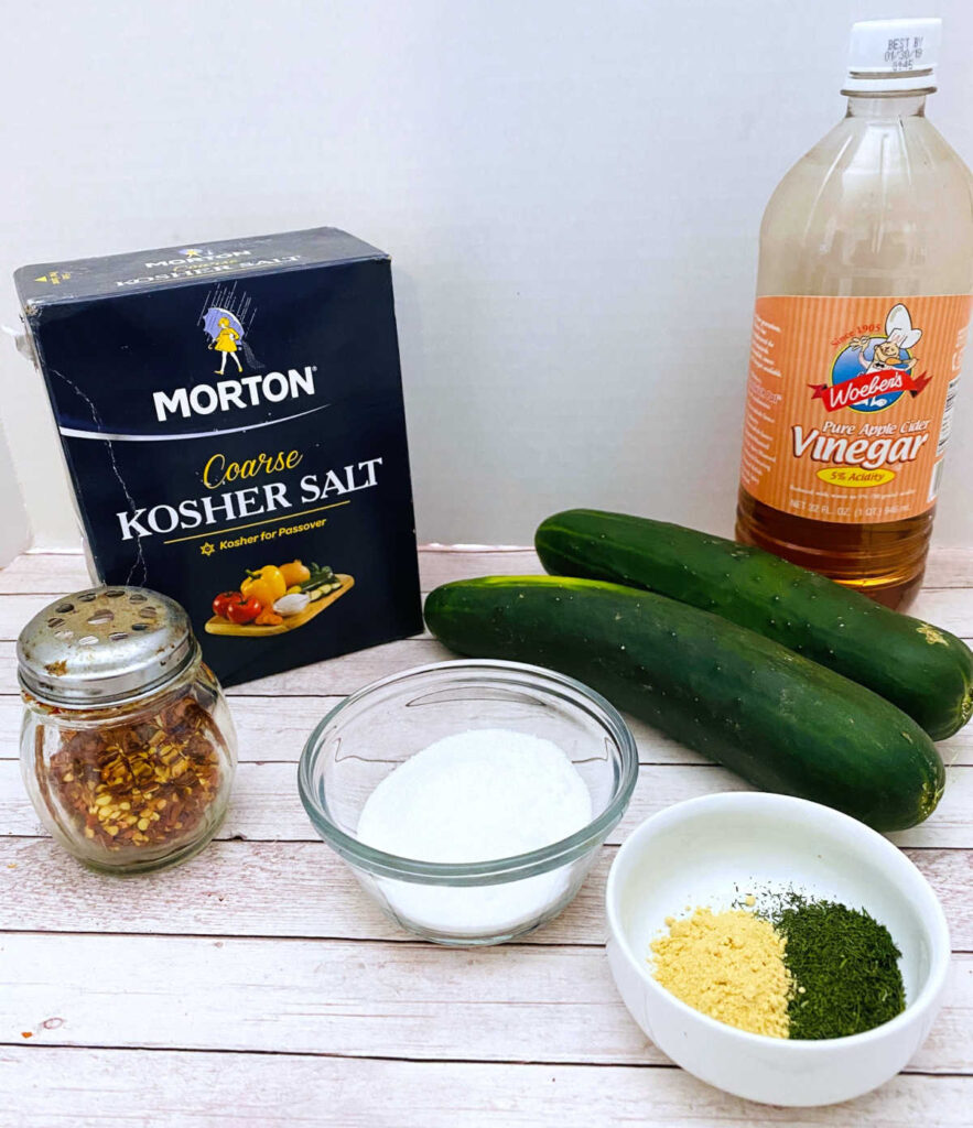
<instances>
[{"instance_id":1,"label":"whitewashed plank just behind the one the spice jar's base rests on","mask_svg":"<svg viewBox=\"0 0 973 1128\"><path fill-rule=\"evenodd\" d=\"M383 766L372 769L376 784ZM608 836L622 841L643 819L673 803L725 791L751 791L738 776L709 764L646 765L639 772L632 802L621 823ZM940 849L973 847L973 768L952 767L946 794L933 813L910 830L889 835L899 846ZM35 837L41 826L27 801L15 760L0 760L0 835ZM292 764L240 764L220 838L251 841L308 841L316 836L297 794Z\"/></svg>"}]
</instances>

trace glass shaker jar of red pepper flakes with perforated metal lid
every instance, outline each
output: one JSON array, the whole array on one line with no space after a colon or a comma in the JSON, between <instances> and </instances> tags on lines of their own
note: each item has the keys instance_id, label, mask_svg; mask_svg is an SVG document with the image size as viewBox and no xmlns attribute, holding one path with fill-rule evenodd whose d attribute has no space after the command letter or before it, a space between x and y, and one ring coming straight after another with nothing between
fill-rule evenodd
<instances>
[{"instance_id":1,"label":"glass shaker jar of red pepper flakes with perforated metal lid","mask_svg":"<svg viewBox=\"0 0 973 1128\"><path fill-rule=\"evenodd\" d=\"M213 837L236 734L178 603L121 587L55 600L20 633L17 672L27 794L74 857L140 873Z\"/></svg>"}]
</instances>

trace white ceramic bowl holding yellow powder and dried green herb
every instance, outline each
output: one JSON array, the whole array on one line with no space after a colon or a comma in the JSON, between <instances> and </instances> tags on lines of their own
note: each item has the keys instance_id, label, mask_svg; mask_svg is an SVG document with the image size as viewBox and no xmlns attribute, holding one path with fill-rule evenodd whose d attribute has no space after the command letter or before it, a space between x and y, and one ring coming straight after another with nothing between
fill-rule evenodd
<instances>
[{"instance_id":1,"label":"white ceramic bowl holding yellow powder and dried green herb","mask_svg":"<svg viewBox=\"0 0 973 1128\"><path fill-rule=\"evenodd\" d=\"M902 1014L849 1038L789 1041L717 1022L652 978L649 945L667 916L790 884L888 927L902 952ZM677 803L619 851L606 900L608 962L632 1017L684 1069L752 1101L832 1104L876 1089L912 1058L943 1001L949 932L936 895L882 835L817 803L738 792Z\"/></svg>"}]
</instances>

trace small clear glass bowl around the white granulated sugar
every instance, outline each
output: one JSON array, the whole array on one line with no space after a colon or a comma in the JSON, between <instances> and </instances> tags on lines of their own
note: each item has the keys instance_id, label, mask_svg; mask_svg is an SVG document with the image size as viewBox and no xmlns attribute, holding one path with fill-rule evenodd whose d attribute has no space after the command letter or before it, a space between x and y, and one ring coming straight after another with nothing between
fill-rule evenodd
<instances>
[{"instance_id":1,"label":"small clear glass bowl around the white granulated sugar","mask_svg":"<svg viewBox=\"0 0 973 1128\"><path fill-rule=\"evenodd\" d=\"M588 786L593 820L569 838L490 862L422 862L358 840L361 809L382 779L437 740L476 729L555 743ZM298 787L315 830L393 920L439 944L499 944L573 899L638 773L635 741L598 694L540 667L471 660L406 670L347 698L305 744Z\"/></svg>"}]
</instances>

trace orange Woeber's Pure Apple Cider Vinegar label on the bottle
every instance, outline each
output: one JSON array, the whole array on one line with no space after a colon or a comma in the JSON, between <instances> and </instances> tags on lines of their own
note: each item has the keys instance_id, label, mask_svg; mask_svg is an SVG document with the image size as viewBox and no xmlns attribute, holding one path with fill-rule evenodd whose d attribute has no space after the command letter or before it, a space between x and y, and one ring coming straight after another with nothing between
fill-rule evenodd
<instances>
[{"instance_id":1,"label":"orange Woeber's Pure Apple Cider Vinegar label on the bottle","mask_svg":"<svg viewBox=\"0 0 973 1128\"><path fill-rule=\"evenodd\" d=\"M757 298L740 483L817 521L936 501L973 297Z\"/></svg>"}]
</instances>

